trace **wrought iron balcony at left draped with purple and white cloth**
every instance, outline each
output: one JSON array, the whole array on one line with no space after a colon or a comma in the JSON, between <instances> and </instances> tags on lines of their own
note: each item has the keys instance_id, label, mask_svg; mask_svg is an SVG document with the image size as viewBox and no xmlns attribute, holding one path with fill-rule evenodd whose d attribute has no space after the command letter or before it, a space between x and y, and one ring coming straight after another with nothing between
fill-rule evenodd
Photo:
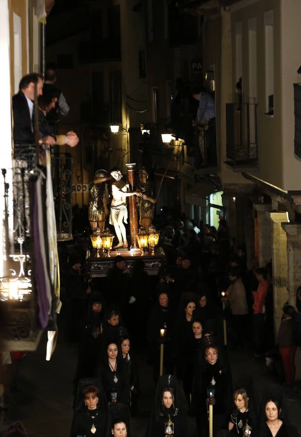
<instances>
[{"instance_id":1,"label":"wrought iron balcony at left draped with purple and white cloth","mask_svg":"<svg viewBox=\"0 0 301 437\"><path fill-rule=\"evenodd\" d=\"M46 162L47 167L44 167ZM0 278L2 350L35 350L42 328L51 322L51 330L55 331L58 304L55 295L58 286L55 273L56 239L72 238L71 166L69 153L53 151L50 160L49 150L41 149L37 156L35 146L27 145L15 150L12 187L6 182L6 169L2 169L5 199L4 271ZM38 191L35 185L37 178L48 181L49 176L52 180L55 219L54 214L51 215L54 211L52 196L48 195L46 189L45 192L43 189ZM48 183L43 184L49 186ZM13 245L9 242L12 231L9 222L10 192L13 193ZM38 199L42 201L39 203ZM41 213L46 210L47 218L45 213ZM57 238L53 238L49 227L54 229L54 221L57 225ZM39 250L42 247L44 251ZM42 270L42 276L36 274ZM41 301L43 299L44 303Z\"/></svg>"}]
</instances>

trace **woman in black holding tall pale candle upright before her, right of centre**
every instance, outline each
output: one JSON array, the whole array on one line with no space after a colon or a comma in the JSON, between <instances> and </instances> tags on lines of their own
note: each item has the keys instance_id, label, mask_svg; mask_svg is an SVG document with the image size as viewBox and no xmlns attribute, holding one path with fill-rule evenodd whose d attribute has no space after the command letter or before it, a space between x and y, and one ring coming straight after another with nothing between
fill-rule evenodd
<instances>
[{"instance_id":1,"label":"woman in black holding tall pale candle upright before her, right of centre","mask_svg":"<svg viewBox=\"0 0 301 437\"><path fill-rule=\"evenodd\" d=\"M205 349L205 362L197 368L192 405L200 437L209 436L209 407L213 406L213 436L217 436L231 405L231 371L223 361L217 347L209 346Z\"/></svg>"}]
</instances>

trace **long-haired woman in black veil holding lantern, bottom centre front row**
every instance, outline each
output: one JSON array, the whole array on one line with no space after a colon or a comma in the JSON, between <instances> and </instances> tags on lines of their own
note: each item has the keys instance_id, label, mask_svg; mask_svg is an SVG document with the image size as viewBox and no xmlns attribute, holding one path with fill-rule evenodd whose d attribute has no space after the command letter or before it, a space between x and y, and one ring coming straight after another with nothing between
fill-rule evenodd
<instances>
[{"instance_id":1,"label":"long-haired woman in black veil holding lantern, bottom centre front row","mask_svg":"<svg viewBox=\"0 0 301 437\"><path fill-rule=\"evenodd\" d=\"M186 437L187 418L178 404L176 378L172 375L162 375L156 388L147 437L165 437L169 434L174 437Z\"/></svg>"}]
</instances>

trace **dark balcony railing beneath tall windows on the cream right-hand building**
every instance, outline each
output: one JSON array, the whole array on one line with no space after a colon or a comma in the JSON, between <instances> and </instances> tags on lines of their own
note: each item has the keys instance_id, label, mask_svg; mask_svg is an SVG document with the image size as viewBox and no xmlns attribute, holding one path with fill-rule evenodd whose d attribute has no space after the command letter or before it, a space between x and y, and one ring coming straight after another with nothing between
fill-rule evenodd
<instances>
[{"instance_id":1,"label":"dark balcony railing beneath tall windows on the cream right-hand building","mask_svg":"<svg viewBox=\"0 0 301 437\"><path fill-rule=\"evenodd\" d=\"M257 103L226 103L227 164L257 165Z\"/></svg>"}]
</instances>

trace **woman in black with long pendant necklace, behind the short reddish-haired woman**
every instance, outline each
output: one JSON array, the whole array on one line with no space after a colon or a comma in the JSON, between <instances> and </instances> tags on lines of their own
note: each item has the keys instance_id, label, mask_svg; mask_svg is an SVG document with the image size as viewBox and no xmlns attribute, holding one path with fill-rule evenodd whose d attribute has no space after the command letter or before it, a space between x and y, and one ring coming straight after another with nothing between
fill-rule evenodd
<instances>
[{"instance_id":1,"label":"woman in black with long pendant necklace, behind the short reddish-haired woman","mask_svg":"<svg viewBox=\"0 0 301 437\"><path fill-rule=\"evenodd\" d=\"M98 377L101 379L108 402L129 402L130 379L126 363L118 352L117 341L108 342L106 356L100 364Z\"/></svg>"}]
</instances>

